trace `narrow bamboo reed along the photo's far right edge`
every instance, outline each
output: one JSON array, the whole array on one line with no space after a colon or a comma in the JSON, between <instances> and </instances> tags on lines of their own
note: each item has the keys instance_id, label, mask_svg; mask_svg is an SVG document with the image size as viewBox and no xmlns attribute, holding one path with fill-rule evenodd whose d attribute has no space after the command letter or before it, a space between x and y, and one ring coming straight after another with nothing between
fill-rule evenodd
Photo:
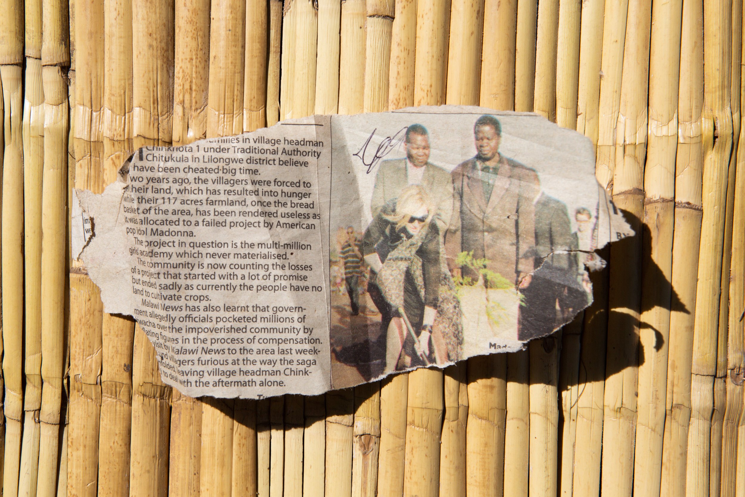
<instances>
[{"instance_id":1,"label":"narrow bamboo reed along the photo's far right edge","mask_svg":"<svg viewBox=\"0 0 745 497\"><path fill-rule=\"evenodd\" d=\"M742 0L732 1L732 131L734 133L732 144L732 156L730 157L730 163L735 163L735 177L729 179L728 184L728 197L729 192L732 191L733 203L732 203L732 238L730 240L732 252L729 268L726 268L725 262L723 261L723 279L722 279L722 290L723 294L720 297L720 330L723 326L729 328L727 335L726 344L726 367L724 370L724 383L725 383L725 395L726 395L726 409L724 412L723 426L722 426L722 460L721 460L721 478L720 478L720 493L725 497L735 497L737 487L737 458L738 458L738 425L741 422L743 402L745 398L743 396L743 382L739 382L738 379L745 368L743 364L743 326L742 322L739 321L739 316L735 318L734 314L738 314L738 309L744 308L743 306L743 295L744 290L741 286L741 274L743 263L743 247L745 247L745 240L742 237L744 220L742 218L742 212L745 205L742 204L742 172L744 166L741 165L741 153L742 153L742 65L741 70L738 71L736 68L738 63L742 63L742 31L743 31L743 2ZM732 166L731 166L732 167ZM729 200L729 199L728 199ZM728 205L729 208L729 205ZM738 212L738 209L739 212ZM728 212L729 214L729 212ZM724 270L728 269L725 277ZM729 300L727 307L728 314L722 315L723 303ZM724 323L722 323L724 321ZM721 337L720 337L721 341ZM721 342L720 342L721 343ZM717 351L717 361L720 359ZM718 373L718 372L717 372ZM744 449L745 450L745 449ZM745 456L745 452L741 453Z\"/></svg>"}]
</instances>

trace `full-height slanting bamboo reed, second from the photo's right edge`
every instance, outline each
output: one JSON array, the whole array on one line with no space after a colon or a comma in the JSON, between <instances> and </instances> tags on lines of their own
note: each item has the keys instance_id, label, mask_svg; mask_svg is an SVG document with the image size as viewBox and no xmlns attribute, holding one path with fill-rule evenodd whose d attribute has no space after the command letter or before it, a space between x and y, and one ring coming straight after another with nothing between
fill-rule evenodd
<instances>
[{"instance_id":1,"label":"full-height slanting bamboo reed, second from the photo's right edge","mask_svg":"<svg viewBox=\"0 0 745 497\"><path fill-rule=\"evenodd\" d=\"M721 288L726 180L732 147L732 0L704 3L704 167L703 222L699 254L693 362L691 364L691 423L688 431L686 492L709 491L711 420L714 377L717 373L717 335ZM714 138L714 132L717 136ZM720 392L717 389L717 397ZM720 399L717 399L720 401ZM717 402L717 403L719 403Z\"/></svg>"}]
</instances>

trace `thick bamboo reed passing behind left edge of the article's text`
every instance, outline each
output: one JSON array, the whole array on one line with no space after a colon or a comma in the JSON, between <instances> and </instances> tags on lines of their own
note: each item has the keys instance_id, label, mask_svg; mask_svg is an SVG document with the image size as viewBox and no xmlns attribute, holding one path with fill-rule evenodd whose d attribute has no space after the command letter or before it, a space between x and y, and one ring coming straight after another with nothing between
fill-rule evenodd
<instances>
[{"instance_id":1,"label":"thick bamboo reed passing behind left edge of the article's text","mask_svg":"<svg viewBox=\"0 0 745 497\"><path fill-rule=\"evenodd\" d=\"M171 143L174 105L174 2L133 0L133 147ZM135 326L130 494L168 493L171 388L153 346Z\"/></svg>"}]
</instances>

